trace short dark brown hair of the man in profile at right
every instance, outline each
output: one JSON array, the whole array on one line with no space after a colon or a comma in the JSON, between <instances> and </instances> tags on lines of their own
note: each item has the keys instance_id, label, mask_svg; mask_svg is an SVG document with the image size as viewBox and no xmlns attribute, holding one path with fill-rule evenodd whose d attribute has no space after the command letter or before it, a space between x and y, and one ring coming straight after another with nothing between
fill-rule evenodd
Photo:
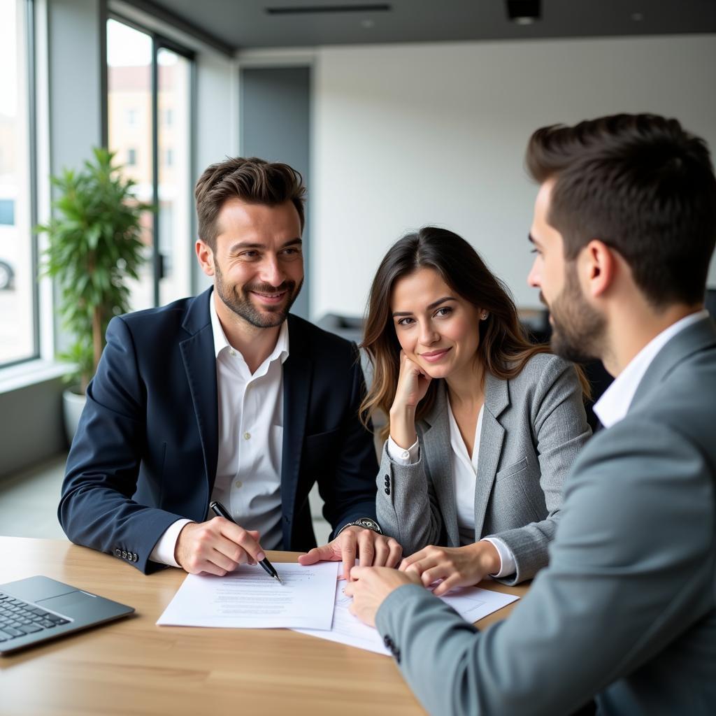
<instances>
[{"instance_id":1,"label":"short dark brown hair of the man in profile at right","mask_svg":"<svg viewBox=\"0 0 716 716\"><path fill-rule=\"evenodd\" d=\"M658 115L612 115L537 130L527 168L554 178L548 221L576 258L598 238L627 261L656 307L703 300L716 243L706 142Z\"/></svg>"}]
</instances>

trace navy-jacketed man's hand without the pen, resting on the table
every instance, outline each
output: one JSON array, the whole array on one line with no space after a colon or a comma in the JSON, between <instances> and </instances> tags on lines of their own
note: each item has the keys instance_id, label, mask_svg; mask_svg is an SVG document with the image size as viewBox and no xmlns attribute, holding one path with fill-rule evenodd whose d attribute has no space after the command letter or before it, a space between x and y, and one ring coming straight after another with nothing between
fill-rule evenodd
<instances>
[{"instance_id":1,"label":"navy-jacketed man's hand without the pen, resting on the table","mask_svg":"<svg viewBox=\"0 0 716 716\"><path fill-rule=\"evenodd\" d=\"M379 535L372 530L352 525L345 528L337 538L322 547L314 547L299 557L301 564L319 561L343 561L342 579L349 579L356 556L362 566L395 567L400 562L402 547L392 537Z\"/></svg>"}]
</instances>

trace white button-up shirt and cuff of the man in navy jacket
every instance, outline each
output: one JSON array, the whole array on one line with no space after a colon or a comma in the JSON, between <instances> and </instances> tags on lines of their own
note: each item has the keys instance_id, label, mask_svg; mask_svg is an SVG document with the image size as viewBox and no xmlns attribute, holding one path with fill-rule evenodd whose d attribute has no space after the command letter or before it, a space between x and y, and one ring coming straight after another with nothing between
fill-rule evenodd
<instances>
[{"instance_id":1,"label":"white button-up shirt and cuff of the man in navy jacket","mask_svg":"<svg viewBox=\"0 0 716 716\"><path fill-rule=\"evenodd\" d=\"M218 461L211 500L218 500L242 527L261 533L264 549L280 549L281 453L284 436L283 364L289 357L289 326L281 324L271 355L253 374L233 348L209 301L216 357ZM150 560L178 567L174 551L190 520L177 520L160 537Z\"/></svg>"}]
</instances>

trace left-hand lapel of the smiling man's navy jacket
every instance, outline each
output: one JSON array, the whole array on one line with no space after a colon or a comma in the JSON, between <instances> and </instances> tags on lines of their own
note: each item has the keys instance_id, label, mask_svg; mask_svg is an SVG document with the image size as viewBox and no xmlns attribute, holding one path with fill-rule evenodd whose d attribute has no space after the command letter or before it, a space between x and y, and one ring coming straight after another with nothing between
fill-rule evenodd
<instances>
[{"instance_id":1,"label":"left-hand lapel of the smiling man's navy jacket","mask_svg":"<svg viewBox=\"0 0 716 716\"><path fill-rule=\"evenodd\" d=\"M218 460L216 354L209 316L210 299L211 289L191 302L182 324L190 337L179 344L199 430L209 495Z\"/></svg>"}]
</instances>

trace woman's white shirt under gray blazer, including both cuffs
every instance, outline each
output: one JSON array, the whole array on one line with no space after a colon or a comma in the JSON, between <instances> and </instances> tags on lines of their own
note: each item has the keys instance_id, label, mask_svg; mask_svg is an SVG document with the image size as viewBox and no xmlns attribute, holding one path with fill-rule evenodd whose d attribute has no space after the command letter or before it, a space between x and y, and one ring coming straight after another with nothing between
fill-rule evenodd
<instances>
[{"instance_id":1,"label":"woman's white shirt under gray blazer, including both cuffs","mask_svg":"<svg viewBox=\"0 0 716 716\"><path fill-rule=\"evenodd\" d=\"M478 459L480 458L480 435L483 429L483 411L480 407L478 422L475 425L475 440L473 440L473 457L468 455L463 436L460 435L458 422L453 415L453 409L448 401L448 420L450 422L450 464L453 470L453 490L455 491L455 508L458 513L458 531L460 545L475 542L475 481L478 473ZM420 448L417 440L407 450L400 448L392 437L388 437L388 456L399 465L412 465L420 459ZM512 550L497 537L485 537L483 540L493 544L500 555L500 569L493 577L505 577L514 574L516 570L515 556Z\"/></svg>"}]
</instances>

